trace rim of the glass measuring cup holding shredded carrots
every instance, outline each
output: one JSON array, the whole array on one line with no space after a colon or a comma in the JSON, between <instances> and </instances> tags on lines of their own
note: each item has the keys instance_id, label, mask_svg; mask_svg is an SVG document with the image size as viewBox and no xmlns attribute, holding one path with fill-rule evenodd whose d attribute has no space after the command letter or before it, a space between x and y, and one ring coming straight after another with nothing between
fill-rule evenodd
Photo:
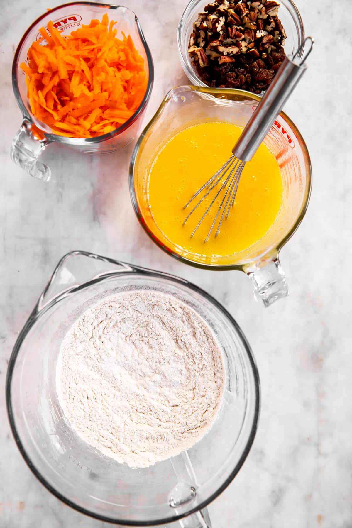
<instances>
[{"instance_id":1,"label":"rim of the glass measuring cup holding shredded carrots","mask_svg":"<svg viewBox=\"0 0 352 528\"><path fill-rule=\"evenodd\" d=\"M25 107L25 105L23 103L23 100L22 100L22 97L20 95L20 90L18 89L17 61L18 61L18 56L20 55L20 51L22 50L23 43L26 40L28 33L33 29L33 27L36 24L38 24L41 20L43 20L43 18L45 18L48 14L54 13L55 11L58 11L62 7L70 7L70 6L77 6L77 5L78 6L86 5L86 6L100 7L100 8L103 8L105 10L107 10L107 9L118 10L120 8L123 8L123 9L126 9L127 11L129 11L132 15L134 15L135 22L136 22L136 25L137 25L138 34L139 34L141 43L142 43L142 45L144 47L144 50L145 50L145 53L146 53L146 56L147 56L147 63L148 63L148 84L147 84L146 93L145 93L143 99L141 100L139 107L134 112L134 114L129 119L127 119L127 121L125 123L120 125L115 130L112 130L111 132L109 132L107 134L103 134L102 136L90 137L90 138L77 138L77 137L65 137L65 136L60 136L58 134L54 134L52 132L46 132L45 130L43 130L42 127L36 125L36 126L38 126L38 128L40 128L40 130L43 132L44 136L47 139L49 139L50 142L55 141L55 142L63 143L65 145L70 145L70 146L81 146L81 145L86 145L87 146L87 145L90 145L90 144L101 143L101 142L103 142L106 139L111 139L113 137L117 137L120 134L122 134L125 130L127 130L131 125L134 124L134 122L138 119L138 117L144 111L144 109L146 108L146 106L148 104L148 101L149 101L149 98L150 98L150 95L151 95L151 90L153 89L153 84L154 84L154 64L153 64L153 58L151 56L151 52L150 52L149 46L148 46L147 41L145 39L144 33L143 33L142 29L141 29L138 17L136 15L136 13L134 11L132 11L129 7L126 7L126 6L123 6L123 5L114 5L114 4L98 4L97 2L69 2L67 4L61 4L61 5L58 5L56 7L53 7L50 11L46 11L41 16L36 18L36 20L34 22L32 22L32 24L25 31L25 33L22 36L22 39L20 40L20 42L17 45L16 51L15 51L15 55L14 55L14 59L13 59L13 62L12 62L12 72L11 72L12 89L13 89L14 94L15 94L15 99L16 99L17 105L20 108L20 110L22 112L22 115L23 115L23 117L25 119L27 119L32 124L34 124L33 118L32 118L32 114Z\"/></svg>"}]
</instances>

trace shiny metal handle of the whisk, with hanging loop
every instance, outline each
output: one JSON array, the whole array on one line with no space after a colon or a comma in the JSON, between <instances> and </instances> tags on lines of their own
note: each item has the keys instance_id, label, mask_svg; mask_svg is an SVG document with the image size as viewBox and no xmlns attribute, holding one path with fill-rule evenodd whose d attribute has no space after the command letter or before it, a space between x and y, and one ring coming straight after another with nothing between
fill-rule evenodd
<instances>
[{"instance_id":1,"label":"shiny metal handle of the whisk, with hanging loop","mask_svg":"<svg viewBox=\"0 0 352 528\"><path fill-rule=\"evenodd\" d=\"M280 114L284 103L290 97L303 73L305 73L307 69L305 60L313 45L311 37L308 37L307 40L311 41L311 47L303 58L298 58L299 52L297 52L293 57L288 55L284 59L273 82L233 147L233 154L242 161L248 162L252 159L264 137L268 134L273 122Z\"/></svg>"}]
</instances>

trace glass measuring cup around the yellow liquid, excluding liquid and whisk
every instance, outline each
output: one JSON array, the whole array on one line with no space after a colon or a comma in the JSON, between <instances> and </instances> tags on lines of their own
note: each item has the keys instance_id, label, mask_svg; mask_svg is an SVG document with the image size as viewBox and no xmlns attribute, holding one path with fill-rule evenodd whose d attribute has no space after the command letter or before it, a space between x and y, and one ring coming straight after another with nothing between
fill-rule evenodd
<instances>
[{"instance_id":1,"label":"glass measuring cup around the yellow liquid, excluding liquid and whisk","mask_svg":"<svg viewBox=\"0 0 352 528\"><path fill-rule=\"evenodd\" d=\"M170 137L204 121L226 121L244 127L259 101L259 96L230 88L181 86L170 90L136 144L130 163L129 183L137 218L161 249L193 266L244 271L253 280L256 298L269 306L288 295L279 252L301 223L311 190L309 153L297 127L286 114L281 112L264 139L281 169L283 203L270 230L250 248L222 257L205 257L188 252L173 244L159 229L148 203L150 167ZM210 176L204 175L204 183Z\"/></svg>"}]
</instances>

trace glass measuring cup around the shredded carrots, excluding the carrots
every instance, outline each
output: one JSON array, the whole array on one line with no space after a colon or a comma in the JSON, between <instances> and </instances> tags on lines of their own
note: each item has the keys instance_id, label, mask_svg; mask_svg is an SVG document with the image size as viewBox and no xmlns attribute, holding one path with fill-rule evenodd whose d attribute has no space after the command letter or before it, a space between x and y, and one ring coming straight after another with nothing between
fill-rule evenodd
<instances>
[{"instance_id":1,"label":"glass measuring cup around the shredded carrots, excluding the carrots","mask_svg":"<svg viewBox=\"0 0 352 528\"><path fill-rule=\"evenodd\" d=\"M137 50L145 61L148 75L148 85L144 98L139 107L123 125L108 134L93 138L70 138L53 134L51 128L32 115L30 103L27 99L25 74L20 64L27 59L27 51L32 42L39 38L39 29L51 20L54 27L63 35L69 35L82 24L89 24L93 18L99 18L107 13L109 20L116 20L117 36L123 31L131 35ZM28 27L23 35L14 56L12 64L12 86L17 105L23 115L23 122L18 130L11 147L11 158L31 176L39 180L48 181L51 176L50 168L38 161L40 154L52 142L61 143L81 152L104 154L127 146L139 132L141 117L147 107L154 80L153 60L134 12L127 7L111 4L97 4L93 2L72 2L45 12Z\"/></svg>"}]
</instances>

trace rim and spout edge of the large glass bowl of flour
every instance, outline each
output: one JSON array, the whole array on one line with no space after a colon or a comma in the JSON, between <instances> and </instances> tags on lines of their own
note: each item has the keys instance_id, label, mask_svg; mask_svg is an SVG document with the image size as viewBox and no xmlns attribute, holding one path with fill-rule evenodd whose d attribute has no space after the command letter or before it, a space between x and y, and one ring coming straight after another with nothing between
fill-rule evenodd
<instances>
[{"instance_id":1,"label":"rim and spout edge of the large glass bowl of flour","mask_svg":"<svg viewBox=\"0 0 352 528\"><path fill-rule=\"evenodd\" d=\"M45 293L45 291L49 288L49 286L51 284L51 281L55 277L57 270L60 268L60 266L64 262L64 260L69 258L69 257L72 257L74 255L77 255L77 254L78 255L87 256L87 257L91 257L91 258L98 259L98 260L102 260L104 262L110 262L110 263L112 263L114 265L120 265L120 264L126 265L127 264L126 262L117 261L117 260L110 259L110 258L107 258L107 257L102 257L102 256L100 256L98 254L89 253L87 251L79 251L79 250L70 251L69 253L66 253L60 259L58 265L56 266L56 268L54 269L54 271L53 271L53 273L51 275L51 278L49 280L48 285L44 288L43 293ZM6 374L6 408L7 408L7 416L8 416L9 425L10 425L10 428L11 428L11 431L12 431L12 435L13 435L14 440L16 442L16 446L17 446L18 450L20 451L25 463L31 469L32 473L39 480L39 482L52 495L54 495L56 498L58 498L62 503L66 504L67 506L70 506L71 508L73 508L73 510L76 510L76 511L78 511L78 512L84 514L84 515L87 515L89 517L96 518L99 521L103 521L103 522L107 522L107 523L111 523L111 524L120 524L120 525L125 525L125 526L155 526L155 525L167 524L167 523L170 523L170 522L172 523L172 522L178 521L181 518L187 517L188 515L191 515L191 514L197 512L197 511L199 511L199 510L202 510L208 504L213 502L214 499L217 498L224 491L224 489L227 486L229 486L229 484L235 478L237 473L239 473L241 467L244 464L245 459L247 458L247 456L248 456L248 454L249 454L249 452L251 450L251 447L253 445L253 441L254 441L254 438L255 438L255 433L256 433L256 430L258 428L258 421L259 421L259 414L260 414L260 401L261 401L260 378L259 378L258 367L256 366L256 362L255 362L255 359L254 359L254 356L253 356L253 353L252 353L252 349L251 349L251 347L250 347L250 345L249 345L249 343L248 343L248 341L247 341L247 339L246 339L241 327L236 322L236 320L232 317L232 315L226 310L226 308L221 303L219 303L213 296L208 294L202 288L199 288L198 286L193 284L193 282L189 282L186 279L183 279L181 277L177 277L175 275L171 275L171 274L168 274L168 273L163 272L163 271L156 271L156 270L151 270L151 269L148 269L148 268L142 268L140 266L135 266L135 265L132 265L132 264L129 264L129 263L127 264L127 266L129 266L132 271L129 271L129 270L118 271L117 274L119 276L121 276L121 275L130 275L130 274L133 274L133 273L138 273L140 275L146 275L146 276L149 276L149 277L167 279L169 282L173 282L173 283L176 282L177 284L181 284L183 286L186 286L187 288L191 289L192 291L194 291L198 295L205 297L212 305L215 306L215 308L220 310L222 315L225 316L225 318L229 322L230 326L234 329L234 331L236 332L236 335L239 337L239 339L241 341L244 353L248 357L248 360L249 360L249 363L250 363L250 369L251 369L251 372L252 372L252 375L253 375L253 382L254 382L254 392L253 392L253 394L254 394L254 414L253 414L253 420L252 420L252 423L251 423L250 433L249 433L248 439L245 442L245 447L244 447L244 449L242 451L241 457L237 461L237 464L233 468L233 470L232 470L231 474L229 475L229 477L227 477L225 479L225 481L222 483L222 485L219 486L216 489L216 491L210 497L205 499L198 506L192 508L192 510L190 510L187 513L176 514L172 518L153 520L153 521L138 521L138 522L136 522L136 521L133 521L133 522L132 521L126 521L126 520L122 520L122 519L120 519L120 520L119 519L112 519L110 517L104 517L103 515L98 515L96 513L92 513L89 510L87 510L86 508L83 508L83 507L79 506L78 504L75 504L68 497L63 496L60 492L56 491L56 489L49 482L47 482L46 478L44 478L42 476L41 472L32 463L30 456L27 455L27 452L26 452L26 450L25 450L25 448L24 448L24 446L22 444L20 435L17 432L16 422L15 422L14 412L13 412L13 407L12 407L11 385L12 385L12 376L13 376L13 372L14 372L14 367L15 367L15 364L16 364L17 356L18 356L18 353L20 352L20 348L21 348L22 343L24 342L24 340L26 338L27 333L34 326L34 324L36 323L37 319L39 319L43 314L45 314L56 303L60 303L60 301L65 298L65 296L62 297L61 295L58 295L58 296L54 297L52 300L49 301L49 303L47 303L44 307L42 307L42 308L40 308L38 310L38 308L40 306L39 303L40 303L40 300L41 300L41 297L40 297L39 300L37 301L34 309L33 309L33 312L28 317L24 327L22 328L20 334L18 335L17 340L16 340L16 342L14 344L14 347L13 347L9 362L8 362L8 368L7 368L7 374ZM70 289L68 291L68 294L76 293L77 291L79 291L79 290L81 290L81 289L83 289L85 287L89 287L89 286L91 286L93 284L97 284L98 282L101 282L102 280L104 280L104 279L106 279L108 277L111 277L112 275L115 275L115 274L113 272L106 272L104 274L101 274L97 278L94 278L92 280L84 282L83 284Z\"/></svg>"}]
</instances>

